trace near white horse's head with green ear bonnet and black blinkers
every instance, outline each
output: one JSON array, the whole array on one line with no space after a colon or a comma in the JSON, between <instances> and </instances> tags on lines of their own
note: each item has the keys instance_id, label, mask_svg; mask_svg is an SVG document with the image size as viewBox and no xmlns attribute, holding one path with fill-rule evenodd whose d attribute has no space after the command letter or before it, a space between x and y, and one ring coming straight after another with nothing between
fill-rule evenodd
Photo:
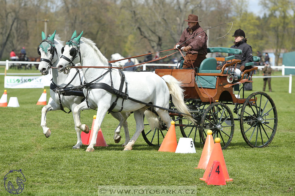
<instances>
[{"instance_id":1,"label":"near white horse's head with green ear bonnet and black blinkers","mask_svg":"<svg viewBox=\"0 0 295 196\"><path fill-rule=\"evenodd\" d=\"M71 39L66 42L65 46L61 49L61 58L57 64L57 70L59 72L69 73L70 65L75 66L75 64L81 62L81 52L80 52L80 39L83 34L76 37L76 31L73 33Z\"/></svg>"}]
</instances>

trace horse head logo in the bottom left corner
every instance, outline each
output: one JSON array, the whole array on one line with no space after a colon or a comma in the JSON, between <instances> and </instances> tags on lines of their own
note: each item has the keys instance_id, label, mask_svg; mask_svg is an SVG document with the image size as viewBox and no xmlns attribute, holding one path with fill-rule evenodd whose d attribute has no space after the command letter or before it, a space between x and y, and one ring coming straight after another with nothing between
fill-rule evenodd
<instances>
[{"instance_id":1,"label":"horse head logo in the bottom left corner","mask_svg":"<svg viewBox=\"0 0 295 196\"><path fill-rule=\"evenodd\" d=\"M24 182L26 178L22 170L10 170L4 177L5 189L12 194L19 194L24 190ZM18 187L16 186L18 185ZM14 187L15 186L15 187Z\"/></svg>"}]
</instances>

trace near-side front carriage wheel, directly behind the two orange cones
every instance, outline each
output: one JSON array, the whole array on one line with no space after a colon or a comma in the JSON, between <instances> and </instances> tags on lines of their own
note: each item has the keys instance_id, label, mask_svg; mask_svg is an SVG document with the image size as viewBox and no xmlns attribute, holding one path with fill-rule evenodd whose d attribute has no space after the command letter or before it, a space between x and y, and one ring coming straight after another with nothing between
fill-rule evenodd
<instances>
[{"instance_id":1,"label":"near-side front carriage wheel, directly behind the two orange cones","mask_svg":"<svg viewBox=\"0 0 295 196\"><path fill-rule=\"evenodd\" d=\"M206 109L200 127L202 139L205 140L209 129L212 130L213 139L220 138L222 149L226 149L234 135L234 116L226 104L216 102Z\"/></svg>"}]
</instances>

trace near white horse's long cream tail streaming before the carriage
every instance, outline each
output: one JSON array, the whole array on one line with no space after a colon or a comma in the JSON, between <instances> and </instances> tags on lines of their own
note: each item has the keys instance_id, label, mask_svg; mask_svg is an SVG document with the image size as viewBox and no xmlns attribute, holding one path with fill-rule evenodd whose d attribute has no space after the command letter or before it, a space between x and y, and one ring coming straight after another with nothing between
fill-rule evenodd
<instances>
[{"instance_id":1,"label":"near white horse's long cream tail streaming before the carriage","mask_svg":"<svg viewBox=\"0 0 295 196\"><path fill-rule=\"evenodd\" d=\"M165 80L169 93L172 96L172 103L175 105L178 111L181 113L185 113L185 118L187 118L192 123L195 123L195 120L191 117L189 109L187 105L184 103L183 92L184 90L181 88L181 82L176 80L175 77L171 75L164 75L162 78Z\"/></svg>"}]
</instances>

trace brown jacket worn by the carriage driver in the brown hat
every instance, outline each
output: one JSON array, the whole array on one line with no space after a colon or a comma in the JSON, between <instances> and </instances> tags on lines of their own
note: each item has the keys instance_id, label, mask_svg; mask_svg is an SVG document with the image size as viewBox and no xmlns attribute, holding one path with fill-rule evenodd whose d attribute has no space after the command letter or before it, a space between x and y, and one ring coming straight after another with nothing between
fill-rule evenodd
<instances>
[{"instance_id":1,"label":"brown jacket worn by the carriage driver in the brown hat","mask_svg":"<svg viewBox=\"0 0 295 196\"><path fill-rule=\"evenodd\" d=\"M201 32L199 35L195 36L191 40L188 40L186 43L181 45L181 47L191 45L192 49L190 51L188 51L187 54L198 53L198 54L206 55L207 54L207 40L208 40L206 33L202 32L203 28L200 27L199 23L196 24L193 28L191 28L191 30L192 30L192 33L190 33L190 28L186 28L182 32L180 40L177 44L182 44L186 40L190 39L191 37L193 37L196 34Z\"/></svg>"}]
</instances>

